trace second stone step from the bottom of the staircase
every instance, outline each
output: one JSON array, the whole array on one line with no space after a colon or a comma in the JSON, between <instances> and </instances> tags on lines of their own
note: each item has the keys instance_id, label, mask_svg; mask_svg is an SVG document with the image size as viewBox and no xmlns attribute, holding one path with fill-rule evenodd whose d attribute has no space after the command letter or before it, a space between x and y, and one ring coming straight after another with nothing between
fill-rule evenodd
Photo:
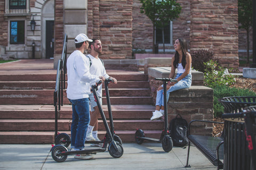
<instances>
[{"instance_id":1,"label":"second stone step from the bottom of the staircase","mask_svg":"<svg viewBox=\"0 0 256 170\"><path fill-rule=\"evenodd\" d=\"M109 122L109 121L108 121ZM156 120L114 120L118 130L162 130L163 121ZM58 130L70 131L71 120L58 120ZM55 129L54 120L0 120L0 131L52 131ZM105 130L102 120L99 120L99 130Z\"/></svg>"}]
</instances>

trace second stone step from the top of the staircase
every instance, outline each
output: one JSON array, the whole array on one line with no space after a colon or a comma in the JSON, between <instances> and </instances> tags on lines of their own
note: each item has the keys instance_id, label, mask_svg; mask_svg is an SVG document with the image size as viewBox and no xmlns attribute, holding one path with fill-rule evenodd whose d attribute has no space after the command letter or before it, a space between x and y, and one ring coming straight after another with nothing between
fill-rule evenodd
<instances>
[{"instance_id":1,"label":"second stone step from the top of the staircase","mask_svg":"<svg viewBox=\"0 0 256 170\"><path fill-rule=\"evenodd\" d=\"M66 83L67 88L67 83ZM147 81L118 81L117 84L110 83L111 88L143 88L149 89ZM0 81L0 89L6 90L42 90L55 89L55 81ZM104 86L103 86L104 89Z\"/></svg>"}]
</instances>

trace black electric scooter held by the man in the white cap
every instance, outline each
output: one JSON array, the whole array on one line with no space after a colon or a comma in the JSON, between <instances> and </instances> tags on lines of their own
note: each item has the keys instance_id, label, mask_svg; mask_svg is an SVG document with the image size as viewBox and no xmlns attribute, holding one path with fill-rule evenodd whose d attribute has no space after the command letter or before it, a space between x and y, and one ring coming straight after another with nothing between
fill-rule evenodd
<instances>
[{"instance_id":1,"label":"black electric scooter held by the man in the white cap","mask_svg":"<svg viewBox=\"0 0 256 170\"><path fill-rule=\"evenodd\" d=\"M105 114L103 113L102 107L100 105L99 102L99 97L96 93L96 90L98 89L99 84L101 84L102 82L99 81L97 83L97 85L93 85L92 87L92 92L94 95L95 100L97 101L97 104L99 106L99 110L100 110L100 114L103 120L103 123L105 125L106 128L106 135L103 139L103 147L102 148L97 148L97 149L85 149L85 150L72 150L69 151L67 149L67 147L62 146L62 145L55 145L52 147L51 151L52 151L52 158L60 163L60 162L64 162L68 155L75 155L75 154L97 154L98 152L105 152L108 148L109 154L114 157L114 158L119 158L123 155L124 153L124 149L122 147L122 145L118 142L116 142L114 140L113 135L110 132L108 123L107 123L107 119L105 117ZM108 146L108 147L107 147Z\"/></svg>"}]
</instances>

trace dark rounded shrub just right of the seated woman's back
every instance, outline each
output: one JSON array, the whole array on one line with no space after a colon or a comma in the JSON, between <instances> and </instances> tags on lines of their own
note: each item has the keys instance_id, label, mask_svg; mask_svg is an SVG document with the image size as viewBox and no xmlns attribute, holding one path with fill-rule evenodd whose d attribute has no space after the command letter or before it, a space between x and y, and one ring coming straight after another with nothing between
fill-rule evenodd
<instances>
[{"instance_id":1,"label":"dark rounded shrub just right of the seated woman's back","mask_svg":"<svg viewBox=\"0 0 256 170\"><path fill-rule=\"evenodd\" d=\"M204 72L205 65L204 63L213 60L217 62L217 65L220 66L219 58L215 57L214 52L211 50L200 49L190 53L192 58L192 67L197 71Z\"/></svg>"}]
</instances>

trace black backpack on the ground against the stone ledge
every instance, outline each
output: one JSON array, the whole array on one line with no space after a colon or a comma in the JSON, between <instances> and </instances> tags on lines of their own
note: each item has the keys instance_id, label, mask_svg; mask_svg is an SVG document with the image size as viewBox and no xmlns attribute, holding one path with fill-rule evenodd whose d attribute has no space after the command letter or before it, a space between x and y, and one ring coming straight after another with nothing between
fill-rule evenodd
<instances>
[{"instance_id":1,"label":"black backpack on the ground against the stone ledge","mask_svg":"<svg viewBox=\"0 0 256 170\"><path fill-rule=\"evenodd\" d=\"M169 134L172 138L173 146L183 147L188 145L188 122L180 114L171 120Z\"/></svg>"}]
</instances>

